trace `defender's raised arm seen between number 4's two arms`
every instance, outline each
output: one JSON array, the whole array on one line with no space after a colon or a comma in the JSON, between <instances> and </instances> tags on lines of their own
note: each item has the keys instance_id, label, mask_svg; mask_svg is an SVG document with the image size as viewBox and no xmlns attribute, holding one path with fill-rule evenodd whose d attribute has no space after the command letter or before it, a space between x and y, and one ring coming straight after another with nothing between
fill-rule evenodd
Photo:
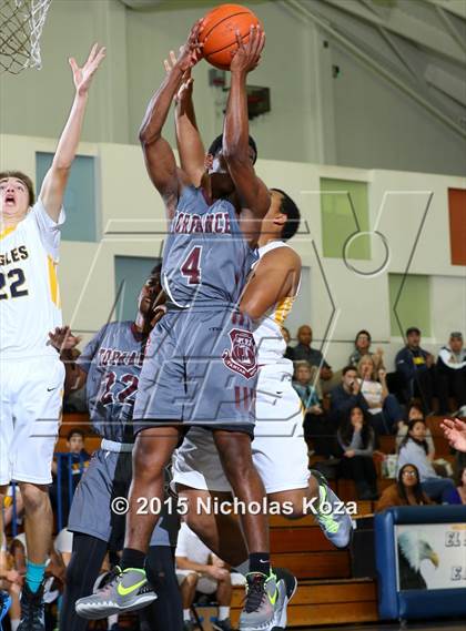
<instances>
[{"instance_id":1,"label":"defender's raised arm seen between number 4's two arms","mask_svg":"<svg viewBox=\"0 0 466 631\"><path fill-rule=\"evenodd\" d=\"M170 60L164 60L168 73L171 72L175 63L176 55L173 51L170 51ZM205 171L205 150L195 119L193 86L194 79L191 77L190 69L184 73L180 89L174 98L175 131L181 169L186 173L194 186L200 186Z\"/></svg>"}]
</instances>

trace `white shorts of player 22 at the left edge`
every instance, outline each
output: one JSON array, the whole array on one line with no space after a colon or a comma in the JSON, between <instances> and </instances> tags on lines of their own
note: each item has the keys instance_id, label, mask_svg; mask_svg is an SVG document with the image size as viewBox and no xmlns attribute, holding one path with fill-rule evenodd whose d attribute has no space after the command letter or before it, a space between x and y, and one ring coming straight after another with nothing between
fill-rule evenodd
<instances>
[{"instance_id":1,"label":"white shorts of player 22 at the left edge","mask_svg":"<svg viewBox=\"0 0 466 631\"><path fill-rule=\"evenodd\" d=\"M0 485L50 485L63 397L57 357L0 365Z\"/></svg>"}]
</instances>

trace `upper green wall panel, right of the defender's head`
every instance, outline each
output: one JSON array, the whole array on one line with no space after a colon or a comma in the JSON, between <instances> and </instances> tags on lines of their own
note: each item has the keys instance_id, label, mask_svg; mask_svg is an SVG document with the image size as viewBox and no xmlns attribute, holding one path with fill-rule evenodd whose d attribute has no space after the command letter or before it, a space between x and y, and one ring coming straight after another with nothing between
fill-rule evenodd
<instances>
[{"instance_id":1,"label":"upper green wall panel, right of the defender's head","mask_svg":"<svg viewBox=\"0 0 466 631\"><path fill-rule=\"evenodd\" d=\"M369 230L367 183L321 179L321 214L324 256L342 258L348 236ZM371 236L355 238L347 257L371 259Z\"/></svg>"}]
</instances>

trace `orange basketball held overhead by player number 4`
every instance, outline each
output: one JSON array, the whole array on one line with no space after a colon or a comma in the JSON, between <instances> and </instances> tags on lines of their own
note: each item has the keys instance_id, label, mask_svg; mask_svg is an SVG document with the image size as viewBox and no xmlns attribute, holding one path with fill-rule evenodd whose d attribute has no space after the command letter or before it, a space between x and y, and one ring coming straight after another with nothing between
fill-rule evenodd
<instances>
[{"instance_id":1,"label":"orange basketball held overhead by player number 4","mask_svg":"<svg viewBox=\"0 0 466 631\"><path fill-rule=\"evenodd\" d=\"M221 70L229 70L232 51L236 50L236 31L243 42L247 42L252 26L262 23L259 18L241 4L221 4L212 9L205 18L200 34L204 44L203 55L209 63Z\"/></svg>"}]
</instances>

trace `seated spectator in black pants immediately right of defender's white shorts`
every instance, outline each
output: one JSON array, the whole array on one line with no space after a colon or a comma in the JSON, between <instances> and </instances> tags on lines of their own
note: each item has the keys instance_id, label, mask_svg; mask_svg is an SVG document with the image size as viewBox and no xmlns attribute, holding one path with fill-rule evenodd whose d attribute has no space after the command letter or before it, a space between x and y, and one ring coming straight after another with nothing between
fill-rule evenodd
<instances>
[{"instance_id":1,"label":"seated spectator in black pants immediately right of defender's white shorts","mask_svg":"<svg viewBox=\"0 0 466 631\"><path fill-rule=\"evenodd\" d=\"M293 387L298 394L304 409L304 439L310 451L318 456L337 456L340 454L336 441L334 423L328 418L322 407L313 381L316 379L316 367L307 362L296 362Z\"/></svg>"}]
</instances>

